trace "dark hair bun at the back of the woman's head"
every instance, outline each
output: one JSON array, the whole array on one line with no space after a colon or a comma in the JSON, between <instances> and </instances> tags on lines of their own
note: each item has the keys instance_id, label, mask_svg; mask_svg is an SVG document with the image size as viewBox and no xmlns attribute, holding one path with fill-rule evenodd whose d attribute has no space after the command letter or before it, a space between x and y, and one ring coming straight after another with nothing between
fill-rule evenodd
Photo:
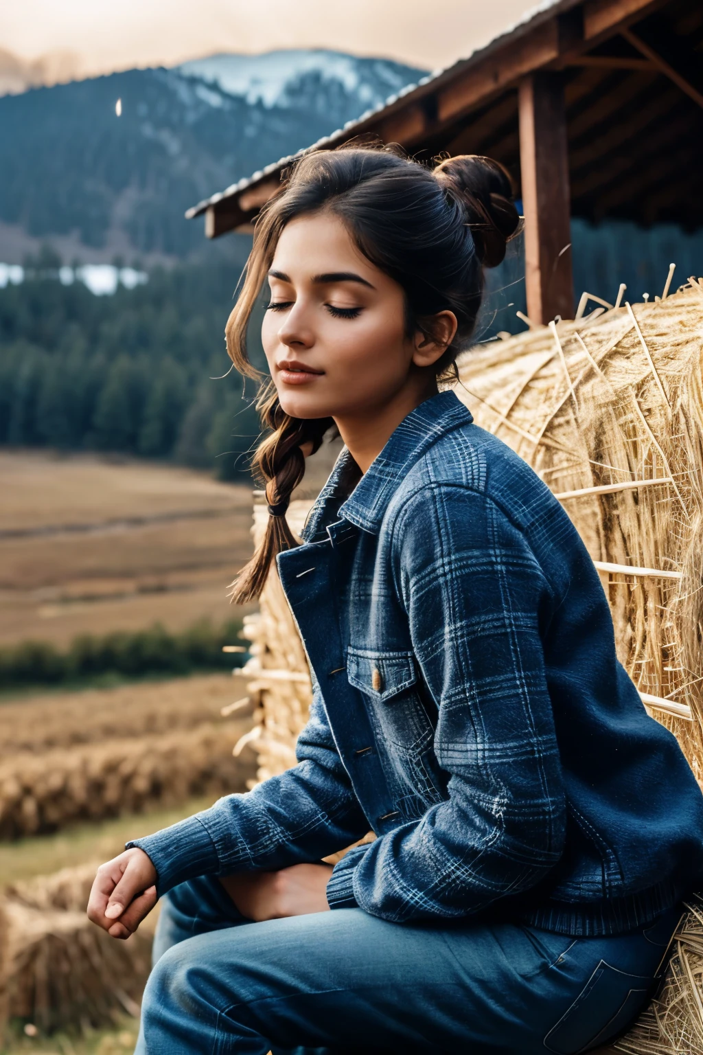
<instances>
[{"instance_id":1,"label":"dark hair bun at the back of the woman's head","mask_svg":"<svg viewBox=\"0 0 703 1055\"><path fill-rule=\"evenodd\" d=\"M496 267L520 227L506 169L490 157L457 154L441 161L433 174L461 203L481 263Z\"/></svg>"}]
</instances>

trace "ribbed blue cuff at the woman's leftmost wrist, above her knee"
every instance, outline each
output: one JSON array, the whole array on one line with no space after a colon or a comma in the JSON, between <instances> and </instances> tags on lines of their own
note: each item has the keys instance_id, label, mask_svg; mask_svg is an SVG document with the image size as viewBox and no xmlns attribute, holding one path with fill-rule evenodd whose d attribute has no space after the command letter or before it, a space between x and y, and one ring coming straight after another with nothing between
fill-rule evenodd
<instances>
[{"instance_id":1,"label":"ribbed blue cuff at the woman's leftmost wrist, above her knee","mask_svg":"<svg viewBox=\"0 0 703 1055\"><path fill-rule=\"evenodd\" d=\"M215 844L197 816L162 828L153 836L125 843L126 849L132 846L138 846L151 858L156 868L159 898L189 879L219 871Z\"/></svg>"}]
</instances>

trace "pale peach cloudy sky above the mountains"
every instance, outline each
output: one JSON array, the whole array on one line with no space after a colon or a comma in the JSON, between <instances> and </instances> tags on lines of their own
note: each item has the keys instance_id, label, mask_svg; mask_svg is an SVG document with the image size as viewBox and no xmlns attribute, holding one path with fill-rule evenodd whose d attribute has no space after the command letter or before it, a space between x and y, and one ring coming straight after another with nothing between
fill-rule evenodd
<instances>
[{"instance_id":1,"label":"pale peach cloudy sky above the mountains","mask_svg":"<svg viewBox=\"0 0 703 1055\"><path fill-rule=\"evenodd\" d=\"M447 65L535 0L0 0L0 46L58 79L216 52L331 47ZM51 72L50 72L51 77Z\"/></svg>"}]
</instances>

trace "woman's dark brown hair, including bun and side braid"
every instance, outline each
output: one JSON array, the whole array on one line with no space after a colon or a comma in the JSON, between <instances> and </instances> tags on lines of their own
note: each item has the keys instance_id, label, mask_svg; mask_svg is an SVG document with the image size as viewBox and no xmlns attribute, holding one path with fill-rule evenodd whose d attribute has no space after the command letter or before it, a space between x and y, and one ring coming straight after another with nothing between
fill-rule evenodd
<instances>
[{"instance_id":1,"label":"woman's dark brown hair, including bun and side braid","mask_svg":"<svg viewBox=\"0 0 703 1055\"><path fill-rule=\"evenodd\" d=\"M227 324L230 358L241 373L263 377L247 357L252 309L286 225L326 208L345 223L364 255L404 289L409 333L430 333L434 315L454 312L456 335L431 367L437 377L447 375L473 332L483 268L501 263L506 242L518 230L511 198L508 173L488 157L447 157L431 170L389 147L304 154L257 219L245 283ZM297 544L285 512L305 473L301 448L317 450L333 424L331 418L285 414L271 379L262 385L257 409L270 431L253 469L263 478L270 517L261 544L232 584L237 601L257 597L275 555Z\"/></svg>"}]
</instances>

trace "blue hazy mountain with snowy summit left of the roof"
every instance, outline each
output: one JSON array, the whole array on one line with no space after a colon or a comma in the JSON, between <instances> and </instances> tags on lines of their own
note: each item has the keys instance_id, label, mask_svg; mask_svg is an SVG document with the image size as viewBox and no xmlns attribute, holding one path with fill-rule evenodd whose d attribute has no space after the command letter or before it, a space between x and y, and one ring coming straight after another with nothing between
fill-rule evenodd
<instances>
[{"instance_id":1,"label":"blue hazy mountain with snowy summit left of the roof","mask_svg":"<svg viewBox=\"0 0 703 1055\"><path fill-rule=\"evenodd\" d=\"M215 55L0 98L0 261L173 261L184 210L358 117L424 71L327 51ZM120 114L116 112L120 100ZM14 257L14 258L13 258Z\"/></svg>"}]
</instances>

